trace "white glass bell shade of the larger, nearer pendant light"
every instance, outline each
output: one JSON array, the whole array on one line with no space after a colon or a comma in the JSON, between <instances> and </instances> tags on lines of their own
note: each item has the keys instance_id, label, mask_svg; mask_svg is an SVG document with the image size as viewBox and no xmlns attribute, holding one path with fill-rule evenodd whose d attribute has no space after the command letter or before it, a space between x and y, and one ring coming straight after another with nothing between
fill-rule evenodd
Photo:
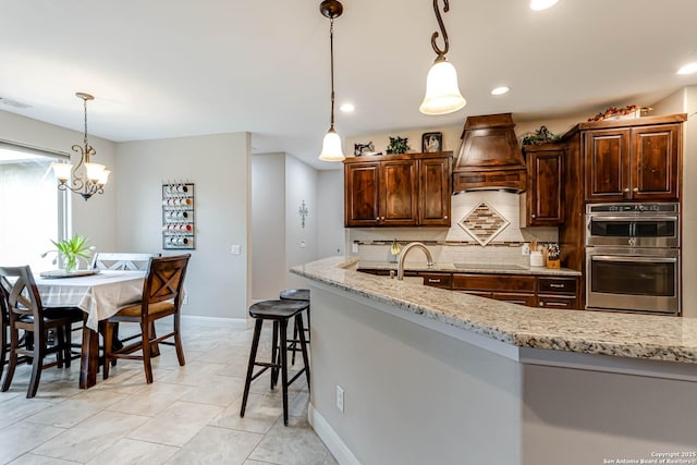
<instances>
[{"instance_id":1,"label":"white glass bell shade of the larger, nearer pendant light","mask_svg":"<svg viewBox=\"0 0 697 465\"><path fill-rule=\"evenodd\" d=\"M426 97L418 108L424 114L448 114L460 110L467 100L460 93L455 66L443 59L436 62L426 78Z\"/></svg>"}]
</instances>

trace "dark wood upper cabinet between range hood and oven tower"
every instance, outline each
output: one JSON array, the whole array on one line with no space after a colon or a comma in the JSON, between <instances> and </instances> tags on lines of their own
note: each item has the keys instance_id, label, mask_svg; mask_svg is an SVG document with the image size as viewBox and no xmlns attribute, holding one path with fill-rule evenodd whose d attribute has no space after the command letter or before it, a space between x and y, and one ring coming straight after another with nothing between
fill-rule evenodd
<instances>
[{"instance_id":1,"label":"dark wood upper cabinet between range hood and oven tower","mask_svg":"<svg viewBox=\"0 0 697 465\"><path fill-rule=\"evenodd\" d=\"M526 225L557 227L564 222L564 146L525 146L527 191Z\"/></svg>"}]
</instances>

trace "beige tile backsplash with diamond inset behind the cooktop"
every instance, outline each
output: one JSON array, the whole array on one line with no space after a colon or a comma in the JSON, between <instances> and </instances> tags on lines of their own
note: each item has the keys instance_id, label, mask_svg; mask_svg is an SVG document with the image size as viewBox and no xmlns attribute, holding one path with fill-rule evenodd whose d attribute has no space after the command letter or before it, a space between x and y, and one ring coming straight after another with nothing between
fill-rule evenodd
<instances>
[{"instance_id":1,"label":"beige tile backsplash with diamond inset behind the cooktop","mask_svg":"<svg viewBox=\"0 0 697 465\"><path fill-rule=\"evenodd\" d=\"M350 242L358 245L364 261L394 260L390 244L423 242L437 262L509 264L527 266L525 243L557 242L557 228L521 229L521 197L503 191L467 192L451 198L452 227L351 228ZM407 262L421 262L423 254L411 254Z\"/></svg>"}]
</instances>

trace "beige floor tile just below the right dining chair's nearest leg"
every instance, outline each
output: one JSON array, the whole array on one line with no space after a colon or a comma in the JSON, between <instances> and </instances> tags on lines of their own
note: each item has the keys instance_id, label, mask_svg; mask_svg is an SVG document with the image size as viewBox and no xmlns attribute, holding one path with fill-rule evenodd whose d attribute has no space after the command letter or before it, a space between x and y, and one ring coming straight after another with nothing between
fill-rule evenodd
<instances>
[{"instance_id":1,"label":"beige floor tile just below the right dining chair's nearest leg","mask_svg":"<svg viewBox=\"0 0 697 465\"><path fill-rule=\"evenodd\" d=\"M132 394L109 407L113 412L154 417L185 396L193 388L169 382L139 384Z\"/></svg>"}]
</instances>

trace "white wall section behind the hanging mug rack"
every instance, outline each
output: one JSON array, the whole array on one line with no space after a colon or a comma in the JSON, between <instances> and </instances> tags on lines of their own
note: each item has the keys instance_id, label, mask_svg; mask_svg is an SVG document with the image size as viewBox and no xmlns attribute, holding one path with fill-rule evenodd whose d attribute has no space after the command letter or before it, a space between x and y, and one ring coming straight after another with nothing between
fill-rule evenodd
<instances>
[{"instance_id":1,"label":"white wall section behind the hanging mug rack","mask_svg":"<svg viewBox=\"0 0 697 465\"><path fill-rule=\"evenodd\" d=\"M246 318L249 255L249 134L119 144L118 250L162 252L162 182L195 184L196 249L185 315ZM241 255L231 246L241 245ZM189 252L189 250L183 250Z\"/></svg>"}]
</instances>

